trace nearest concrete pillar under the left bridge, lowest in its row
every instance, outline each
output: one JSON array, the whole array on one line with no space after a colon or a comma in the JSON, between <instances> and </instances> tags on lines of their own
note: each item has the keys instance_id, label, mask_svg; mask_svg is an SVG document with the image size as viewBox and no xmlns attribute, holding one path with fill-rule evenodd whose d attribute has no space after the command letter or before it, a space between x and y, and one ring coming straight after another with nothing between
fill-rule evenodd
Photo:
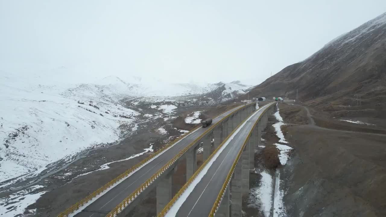
<instances>
[{"instance_id":1,"label":"nearest concrete pillar under the left bridge, lowest in its row","mask_svg":"<svg viewBox=\"0 0 386 217\"><path fill-rule=\"evenodd\" d=\"M156 186L156 200L157 200L157 214L159 214L164 207L169 203L173 198L172 195L172 175L174 169L168 174L161 177L161 180L157 183Z\"/></svg>"}]
</instances>

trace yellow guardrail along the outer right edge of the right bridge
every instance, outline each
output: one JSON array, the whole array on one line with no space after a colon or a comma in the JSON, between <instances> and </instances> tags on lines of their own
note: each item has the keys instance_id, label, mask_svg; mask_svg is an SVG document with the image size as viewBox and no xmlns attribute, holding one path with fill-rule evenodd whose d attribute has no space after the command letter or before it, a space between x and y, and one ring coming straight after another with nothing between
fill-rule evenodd
<instances>
[{"instance_id":1,"label":"yellow guardrail along the outer right edge of the right bridge","mask_svg":"<svg viewBox=\"0 0 386 217\"><path fill-rule=\"evenodd\" d=\"M273 106L273 105L274 105L274 103L273 103L272 105L267 106L267 107L264 109L264 111L262 112L262 114L264 114L264 113L267 111L267 109L269 109L269 108L270 108L271 106ZM216 214L216 212L217 212L217 210L218 210L218 207L220 207L222 198L223 198L224 195L225 195L225 190L227 190L227 187L229 186L230 180L232 179L233 172L234 172L234 170L235 170L235 167L236 167L237 163L239 162L239 159L240 159L240 156L241 156L241 154L242 154L242 151L244 150L244 147L247 145L247 142L248 142L248 140L249 140L249 137L251 137L252 131L254 130L254 128L256 127L256 124L257 124L257 123L259 122L259 120L261 119L262 114L261 114L260 117L256 120L256 122L255 122L255 124L253 125L251 131L249 131L249 134L248 134L247 138L245 139L244 144L242 145L242 147L241 147L239 153L237 154L237 157L236 157L234 163L232 164L232 167L230 168L230 171L229 171L229 173L228 173L228 175L227 175L227 178L225 179L225 182L224 182L223 185L222 185L222 188L221 188L221 190L220 190L220 193L218 193L218 196L217 196L217 198L216 198L216 200L215 200L215 203L213 204L212 210L210 210L209 217L214 217L215 214Z\"/></svg>"}]
</instances>

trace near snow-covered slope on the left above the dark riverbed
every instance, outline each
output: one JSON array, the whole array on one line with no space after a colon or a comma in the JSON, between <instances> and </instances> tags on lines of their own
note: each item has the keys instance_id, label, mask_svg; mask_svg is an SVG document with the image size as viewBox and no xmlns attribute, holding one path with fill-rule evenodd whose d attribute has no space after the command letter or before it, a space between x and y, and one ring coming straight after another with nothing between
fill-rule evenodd
<instances>
[{"instance_id":1,"label":"near snow-covered slope on the left above the dark riverbed","mask_svg":"<svg viewBox=\"0 0 386 217\"><path fill-rule=\"evenodd\" d=\"M119 104L116 86L41 85L41 78L0 78L0 182L117 141L138 112ZM67 89L68 88L68 89Z\"/></svg>"}]
</instances>

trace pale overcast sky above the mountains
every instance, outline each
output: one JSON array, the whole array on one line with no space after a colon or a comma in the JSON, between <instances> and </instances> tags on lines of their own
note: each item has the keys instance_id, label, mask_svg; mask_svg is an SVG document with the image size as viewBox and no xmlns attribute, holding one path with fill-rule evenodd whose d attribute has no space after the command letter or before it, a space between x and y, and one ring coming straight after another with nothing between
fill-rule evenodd
<instances>
[{"instance_id":1,"label":"pale overcast sky above the mountains","mask_svg":"<svg viewBox=\"0 0 386 217\"><path fill-rule=\"evenodd\" d=\"M0 0L0 73L257 84L384 12L385 0Z\"/></svg>"}]
</instances>

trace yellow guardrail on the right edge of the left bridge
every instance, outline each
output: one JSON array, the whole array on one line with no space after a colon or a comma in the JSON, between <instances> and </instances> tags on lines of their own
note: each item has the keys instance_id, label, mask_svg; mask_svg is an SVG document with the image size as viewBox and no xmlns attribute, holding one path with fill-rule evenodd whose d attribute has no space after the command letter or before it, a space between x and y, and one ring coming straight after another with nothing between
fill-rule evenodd
<instances>
[{"instance_id":1,"label":"yellow guardrail on the right edge of the left bridge","mask_svg":"<svg viewBox=\"0 0 386 217\"><path fill-rule=\"evenodd\" d=\"M212 129L214 129L218 124L220 124L223 120L233 115L235 112L239 111L245 106L249 106L252 104L254 103L249 103L247 105L241 106L240 108L234 110L232 113L223 117L216 124L213 124L207 131L203 132L198 138L196 138L193 142L191 142L188 146L186 146L183 150L181 150L176 156L174 156L170 161L168 161L168 163L166 163L161 169L159 169L156 173L154 173L154 175L152 175L148 180L146 180L145 183L140 185L139 188L137 188L133 193L129 195L129 197L126 197L121 203L119 203L117 207L115 207L111 212L109 212L106 215L106 217L114 217L118 213L122 212L122 210L125 209L125 207L129 205L135 198L137 198L138 195L145 190L145 188L151 185L151 183L153 183L154 180L156 180L156 178L158 178L164 171L166 171L171 165L173 165L178 160L178 158L180 158L183 154L185 154L192 146L194 146L198 141L200 141L200 139L202 139L202 137L204 137L208 132L212 131Z\"/></svg>"}]
</instances>

